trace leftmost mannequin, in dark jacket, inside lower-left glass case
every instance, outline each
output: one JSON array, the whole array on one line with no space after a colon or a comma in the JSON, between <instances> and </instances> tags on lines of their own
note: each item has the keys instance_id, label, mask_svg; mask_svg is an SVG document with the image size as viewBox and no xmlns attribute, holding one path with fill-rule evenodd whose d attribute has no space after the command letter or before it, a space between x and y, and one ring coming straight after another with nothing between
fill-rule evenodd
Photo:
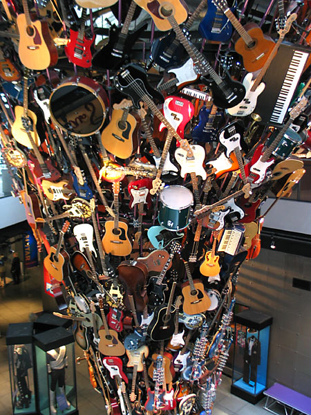
<instances>
[{"instance_id":1,"label":"leftmost mannequin, in dark jacket, inside lower-left glass case","mask_svg":"<svg viewBox=\"0 0 311 415\"><path fill-rule=\"evenodd\" d=\"M19 401L17 408L28 408L31 401L32 391L28 389L27 376L28 369L32 367L28 350L25 344L15 344L14 347L14 364L16 369L17 387L19 389Z\"/></svg>"}]
</instances>

